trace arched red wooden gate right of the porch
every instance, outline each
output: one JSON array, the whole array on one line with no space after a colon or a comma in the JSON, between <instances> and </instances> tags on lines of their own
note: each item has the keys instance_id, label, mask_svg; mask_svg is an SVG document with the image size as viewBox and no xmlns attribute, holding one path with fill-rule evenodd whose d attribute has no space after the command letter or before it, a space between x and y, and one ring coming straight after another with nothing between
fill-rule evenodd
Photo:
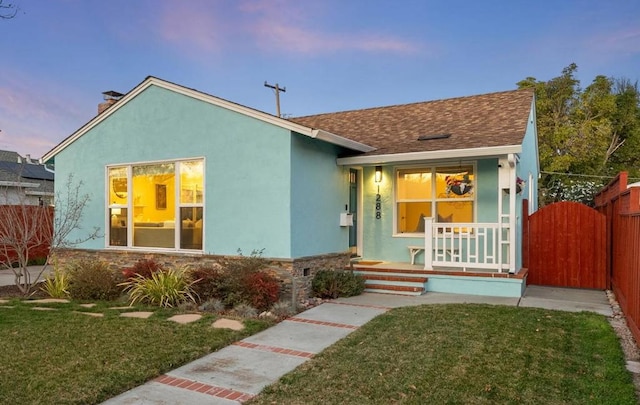
<instances>
[{"instance_id":1,"label":"arched red wooden gate right of the porch","mask_svg":"<svg viewBox=\"0 0 640 405\"><path fill-rule=\"evenodd\" d=\"M563 201L524 217L527 284L607 288L604 215L586 205Z\"/></svg>"}]
</instances>

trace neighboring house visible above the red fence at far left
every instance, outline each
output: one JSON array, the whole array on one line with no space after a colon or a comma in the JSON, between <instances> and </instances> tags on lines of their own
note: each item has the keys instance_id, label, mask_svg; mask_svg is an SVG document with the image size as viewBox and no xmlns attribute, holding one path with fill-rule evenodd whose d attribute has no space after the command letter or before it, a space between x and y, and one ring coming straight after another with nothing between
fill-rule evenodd
<instances>
[{"instance_id":1,"label":"neighboring house visible above the red fence at far left","mask_svg":"<svg viewBox=\"0 0 640 405\"><path fill-rule=\"evenodd\" d=\"M0 205L51 205L53 182L52 168L0 150Z\"/></svg>"}]
</instances>

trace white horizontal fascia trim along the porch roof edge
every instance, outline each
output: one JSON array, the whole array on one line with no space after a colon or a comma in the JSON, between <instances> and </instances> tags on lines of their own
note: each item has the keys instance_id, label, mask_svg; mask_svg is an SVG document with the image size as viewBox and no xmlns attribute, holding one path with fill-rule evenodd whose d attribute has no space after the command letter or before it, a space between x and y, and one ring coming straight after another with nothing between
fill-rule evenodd
<instances>
[{"instance_id":1,"label":"white horizontal fascia trim along the porch roof edge","mask_svg":"<svg viewBox=\"0 0 640 405\"><path fill-rule=\"evenodd\" d=\"M338 158L338 165L373 165L384 163L419 162L438 159L487 158L521 153L522 145L490 146L485 148L447 149L424 152L390 153L385 155L367 155Z\"/></svg>"}]
</instances>

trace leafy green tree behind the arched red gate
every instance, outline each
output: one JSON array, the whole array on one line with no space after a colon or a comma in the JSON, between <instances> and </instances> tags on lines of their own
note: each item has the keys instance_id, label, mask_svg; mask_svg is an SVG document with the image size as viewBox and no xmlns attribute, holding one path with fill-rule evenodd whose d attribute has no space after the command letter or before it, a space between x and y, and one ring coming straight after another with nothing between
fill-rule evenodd
<instances>
[{"instance_id":1,"label":"leafy green tree behind the arched red gate","mask_svg":"<svg viewBox=\"0 0 640 405\"><path fill-rule=\"evenodd\" d=\"M602 185L598 176L626 170L633 177L640 170L637 83L600 75L583 90L577 69L572 63L548 81L527 77L518 83L536 93L541 204L590 203Z\"/></svg>"}]
</instances>

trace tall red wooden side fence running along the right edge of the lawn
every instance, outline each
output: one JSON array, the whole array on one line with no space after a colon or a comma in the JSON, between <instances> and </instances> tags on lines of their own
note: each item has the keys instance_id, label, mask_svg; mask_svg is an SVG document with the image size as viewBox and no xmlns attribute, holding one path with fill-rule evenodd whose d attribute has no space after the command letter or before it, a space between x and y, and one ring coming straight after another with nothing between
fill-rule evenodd
<instances>
[{"instance_id":1,"label":"tall red wooden side fence running along the right edge of the lawn","mask_svg":"<svg viewBox=\"0 0 640 405\"><path fill-rule=\"evenodd\" d=\"M607 216L607 277L629 329L640 342L640 187L627 187L621 172L598 195L596 209Z\"/></svg>"}]
</instances>

